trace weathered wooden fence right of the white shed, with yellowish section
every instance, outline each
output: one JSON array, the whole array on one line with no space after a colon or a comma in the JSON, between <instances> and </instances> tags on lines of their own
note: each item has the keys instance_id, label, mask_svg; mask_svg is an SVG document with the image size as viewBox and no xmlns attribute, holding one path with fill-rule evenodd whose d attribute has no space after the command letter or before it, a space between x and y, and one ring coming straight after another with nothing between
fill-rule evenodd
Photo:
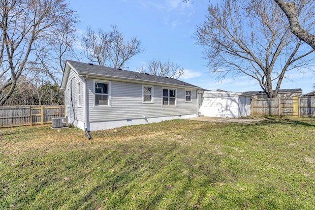
<instances>
[{"instance_id":1,"label":"weathered wooden fence right of the white shed, with yellowish section","mask_svg":"<svg viewBox=\"0 0 315 210\"><path fill-rule=\"evenodd\" d=\"M252 99L251 115L315 117L315 96Z\"/></svg>"}]
</instances>

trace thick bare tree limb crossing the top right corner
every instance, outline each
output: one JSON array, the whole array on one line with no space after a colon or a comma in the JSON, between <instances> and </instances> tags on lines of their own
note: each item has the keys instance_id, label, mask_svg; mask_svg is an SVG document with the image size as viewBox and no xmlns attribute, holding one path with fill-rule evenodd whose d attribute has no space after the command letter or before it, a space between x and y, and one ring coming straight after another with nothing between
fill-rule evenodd
<instances>
[{"instance_id":1,"label":"thick bare tree limb crossing the top right corner","mask_svg":"<svg viewBox=\"0 0 315 210\"><path fill-rule=\"evenodd\" d=\"M300 0L298 2L296 0L290 2L286 2L284 0L275 0L275 2L277 2L286 15L290 23L291 32L299 39L305 41L315 50L315 35L309 32L310 29L303 29L299 21L299 16L301 16L301 13L303 13L303 16L306 16L306 13L308 13L308 16L314 17L314 0ZM295 4L297 4L297 6Z\"/></svg>"}]
</instances>

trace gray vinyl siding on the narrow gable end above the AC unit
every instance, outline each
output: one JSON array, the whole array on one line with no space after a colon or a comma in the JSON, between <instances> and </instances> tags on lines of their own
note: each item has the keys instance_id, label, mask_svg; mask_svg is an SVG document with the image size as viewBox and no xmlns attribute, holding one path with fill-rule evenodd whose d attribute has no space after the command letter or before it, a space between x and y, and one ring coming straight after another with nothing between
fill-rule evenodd
<instances>
[{"instance_id":1,"label":"gray vinyl siding on the narrow gable end above the AC unit","mask_svg":"<svg viewBox=\"0 0 315 210\"><path fill-rule=\"evenodd\" d=\"M72 78L74 78L72 80ZM72 81L71 81L72 80ZM71 86L72 82L72 86ZM78 82L81 82L81 107L78 107ZM64 104L65 104L65 110L66 110L66 116L73 119L75 117L76 120L83 122L83 110L84 110L84 83L81 80L80 77L77 76L76 72L74 72L72 69L69 72L68 82L66 85L66 88L64 90ZM70 90L70 92L68 91ZM73 108L71 104L71 91L72 91L72 103ZM73 109L75 112L75 115L73 114Z\"/></svg>"}]
</instances>

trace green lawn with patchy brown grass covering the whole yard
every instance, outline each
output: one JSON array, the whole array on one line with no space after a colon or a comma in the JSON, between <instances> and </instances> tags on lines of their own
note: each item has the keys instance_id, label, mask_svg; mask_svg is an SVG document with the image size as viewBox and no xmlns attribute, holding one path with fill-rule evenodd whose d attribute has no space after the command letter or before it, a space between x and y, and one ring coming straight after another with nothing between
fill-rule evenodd
<instances>
[{"instance_id":1,"label":"green lawn with patchy brown grass covering the whole yard","mask_svg":"<svg viewBox=\"0 0 315 210\"><path fill-rule=\"evenodd\" d=\"M0 129L0 209L315 209L315 120Z\"/></svg>"}]
</instances>

